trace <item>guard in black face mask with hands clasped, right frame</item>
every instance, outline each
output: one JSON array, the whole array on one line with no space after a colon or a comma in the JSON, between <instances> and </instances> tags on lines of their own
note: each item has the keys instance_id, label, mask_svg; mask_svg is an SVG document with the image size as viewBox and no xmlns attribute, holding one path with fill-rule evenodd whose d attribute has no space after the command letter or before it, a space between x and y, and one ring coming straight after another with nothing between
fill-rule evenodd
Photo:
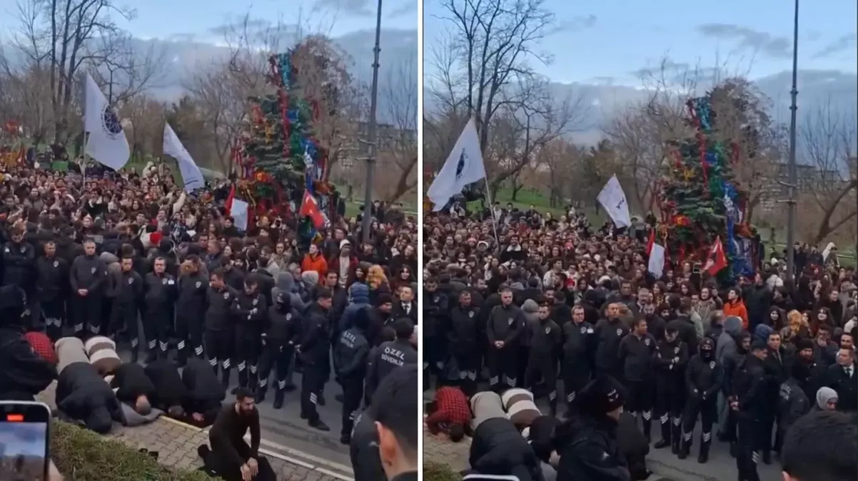
<instances>
[{"instance_id":1,"label":"guard in black face mask with hands clasped, right frame","mask_svg":"<svg viewBox=\"0 0 858 481\"><path fill-rule=\"evenodd\" d=\"M664 339L658 342L655 362L656 416L659 424L662 425L662 440L656 442L653 447L661 449L669 445L674 454L679 454L682 437L682 408L685 407L686 401L685 371L688 364L688 346L680 340L679 330L673 324L668 324L664 330Z\"/></svg>"}]
</instances>

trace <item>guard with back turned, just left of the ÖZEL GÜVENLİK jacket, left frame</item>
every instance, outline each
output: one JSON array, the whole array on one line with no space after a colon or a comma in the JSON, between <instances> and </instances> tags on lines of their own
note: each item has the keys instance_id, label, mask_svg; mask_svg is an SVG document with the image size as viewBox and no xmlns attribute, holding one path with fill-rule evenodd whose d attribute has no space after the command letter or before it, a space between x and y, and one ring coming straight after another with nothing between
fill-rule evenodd
<instances>
[{"instance_id":1,"label":"guard with back turned, just left of the \u00d6ZEL G\u00dcVENL\u0130K jacket, left frame","mask_svg":"<svg viewBox=\"0 0 858 481\"><path fill-rule=\"evenodd\" d=\"M358 416L360 401L364 398L366 358L370 343L366 330L370 325L369 307L354 313L352 328L344 330L334 347L334 372L342 386L342 431L340 442L352 441L352 426Z\"/></svg>"}]
</instances>

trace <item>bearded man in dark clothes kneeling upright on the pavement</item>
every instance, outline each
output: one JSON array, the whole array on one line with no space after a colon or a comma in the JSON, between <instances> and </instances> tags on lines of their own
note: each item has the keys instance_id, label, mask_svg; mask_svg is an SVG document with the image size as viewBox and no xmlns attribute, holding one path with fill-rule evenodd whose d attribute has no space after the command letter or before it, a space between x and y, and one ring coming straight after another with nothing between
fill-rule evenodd
<instances>
[{"instance_id":1,"label":"bearded man in dark clothes kneeling upright on the pavement","mask_svg":"<svg viewBox=\"0 0 858 481\"><path fill-rule=\"evenodd\" d=\"M245 433L251 431L251 445ZM208 431L211 448L197 448L209 474L227 481L275 481L276 475L268 460L259 455L259 412L249 389L239 389L235 402L223 407Z\"/></svg>"}]
</instances>

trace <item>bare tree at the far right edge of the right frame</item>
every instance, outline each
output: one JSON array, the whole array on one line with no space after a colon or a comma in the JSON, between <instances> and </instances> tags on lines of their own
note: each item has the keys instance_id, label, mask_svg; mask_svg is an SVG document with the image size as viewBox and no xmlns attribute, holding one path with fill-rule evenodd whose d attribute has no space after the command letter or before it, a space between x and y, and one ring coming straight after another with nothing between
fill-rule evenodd
<instances>
[{"instance_id":1,"label":"bare tree at the far right edge of the right frame","mask_svg":"<svg viewBox=\"0 0 858 481\"><path fill-rule=\"evenodd\" d=\"M855 117L838 112L831 99L801 124L807 160L816 169L816 175L803 179L801 186L807 188L822 216L814 244L858 215L856 128Z\"/></svg>"}]
</instances>

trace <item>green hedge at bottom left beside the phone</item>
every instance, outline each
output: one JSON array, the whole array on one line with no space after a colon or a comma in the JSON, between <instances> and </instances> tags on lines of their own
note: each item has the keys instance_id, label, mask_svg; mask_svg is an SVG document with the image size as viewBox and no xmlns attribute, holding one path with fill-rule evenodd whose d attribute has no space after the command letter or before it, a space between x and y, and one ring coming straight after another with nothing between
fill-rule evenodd
<instances>
[{"instance_id":1,"label":"green hedge at bottom left beside the phone","mask_svg":"<svg viewBox=\"0 0 858 481\"><path fill-rule=\"evenodd\" d=\"M51 459L69 481L215 481L199 471L172 470L122 442L54 421Z\"/></svg>"}]
</instances>

